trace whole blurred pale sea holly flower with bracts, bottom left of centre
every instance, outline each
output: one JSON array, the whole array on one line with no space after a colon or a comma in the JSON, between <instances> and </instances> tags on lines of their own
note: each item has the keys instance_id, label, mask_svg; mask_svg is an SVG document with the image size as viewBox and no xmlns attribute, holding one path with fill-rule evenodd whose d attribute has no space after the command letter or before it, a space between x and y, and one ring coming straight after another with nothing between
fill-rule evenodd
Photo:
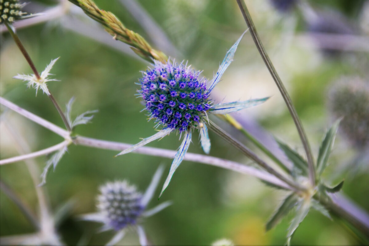
<instances>
[{"instance_id":1,"label":"whole blurred pale sea holly flower with bracts, bottom left of centre","mask_svg":"<svg viewBox=\"0 0 369 246\"><path fill-rule=\"evenodd\" d=\"M136 186L130 185L126 180L106 183L100 187L100 195L97 197L99 212L82 216L83 220L101 222L104 226L100 231L114 230L117 234L106 245L115 245L125 235L127 228L137 231L141 245L146 245L146 236L140 222L164 208L171 202L163 202L158 206L146 210L149 201L158 186L163 173L163 167L159 167L145 194L137 191Z\"/></svg>"}]
</instances>

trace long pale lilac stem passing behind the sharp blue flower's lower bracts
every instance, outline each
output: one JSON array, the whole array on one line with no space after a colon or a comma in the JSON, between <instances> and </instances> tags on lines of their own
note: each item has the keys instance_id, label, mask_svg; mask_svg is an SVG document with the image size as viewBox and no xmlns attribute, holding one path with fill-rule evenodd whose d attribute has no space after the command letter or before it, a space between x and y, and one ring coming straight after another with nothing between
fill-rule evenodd
<instances>
[{"instance_id":1,"label":"long pale lilac stem passing behind the sharp blue flower's lower bracts","mask_svg":"<svg viewBox=\"0 0 369 246\"><path fill-rule=\"evenodd\" d=\"M87 138L84 136L77 136L75 139L73 139L73 143L75 143L76 145L83 145L98 149L109 149L117 151L122 151L132 146L128 143L105 141L100 139ZM136 149L134 150L134 152L144 155L161 156L167 158L173 158L173 156L175 156L175 154L177 153L177 151L175 150L159 149L146 146ZM241 163L232 162L230 160L225 160L213 156L206 156L189 152L187 152L186 155L184 155L183 159L192 162L208 164L211 166L222 167L224 169L232 170L238 173L248 174L250 176L254 176L261 180L265 180L267 182L275 184L279 187L286 188L287 190L294 190L292 187L287 185L285 182L277 179L275 176L270 175L265 171L258 170L254 167L245 166Z\"/></svg>"}]
</instances>

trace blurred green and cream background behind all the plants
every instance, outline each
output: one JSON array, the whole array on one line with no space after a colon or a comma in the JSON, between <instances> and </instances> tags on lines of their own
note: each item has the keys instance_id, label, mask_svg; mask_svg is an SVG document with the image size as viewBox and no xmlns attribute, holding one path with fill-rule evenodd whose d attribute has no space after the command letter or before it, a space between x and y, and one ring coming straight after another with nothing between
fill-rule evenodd
<instances>
[{"instance_id":1,"label":"blurred green and cream background behind all the plants","mask_svg":"<svg viewBox=\"0 0 369 246\"><path fill-rule=\"evenodd\" d=\"M369 165L365 156L369 153L369 1L245 2L301 117L315 158L325 130L335 119L346 116L324 177L332 184L344 178L343 192L369 211ZM96 0L96 3L112 11L126 27L171 58L189 60L193 67L204 70L203 75L208 78L246 29L237 3L231 0ZM39 71L60 56L52 70L60 81L49 83L49 90L60 105L75 96L74 116L99 110L92 124L78 126L76 134L126 143L152 135L154 123L147 122L145 113L140 112L143 106L134 95L138 89L135 82L141 76L139 71L145 70L148 63L135 56L127 45L113 41L99 24L68 2L32 0L25 10L37 13L55 6L62 6L53 13L55 18L19 29L18 34ZM138 13L143 13L144 18L138 17ZM0 62L0 95L63 127L45 94L39 92L35 97L33 89L12 79L18 73L32 71L6 32L1 33ZM355 101L358 93L363 99ZM279 152L271 136L303 153L289 112L249 33L242 39L234 62L214 94L218 101L272 96L265 104L234 116L276 153ZM1 121L1 159L18 155L3 121L27 140L32 151L62 140L3 107ZM254 149L239 132L218 123ZM210 132L210 139L210 155L252 165L217 135ZM174 150L179 144L179 135L173 134L150 146ZM189 151L201 153L196 136ZM76 219L79 214L96 211L95 197L101 184L127 179L144 190L158 165L165 164L168 171L171 163L170 159L134 153L113 158L115 154L71 145L56 170L49 173L45 188L53 211L66 202L74 202L58 227L65 243L75 245L85 237L96 245L111 237L110 232L94 233L99 224ZM36 160L42 171L47 158ZM1 180L36 211L37 198L25 164L1 166L0 171ZM2 191L0 194L0 236L34 232L7 195ZM158 194L159 189L155 196ZM161 198L173 201L173 205L147 219L144 226L149 240L159 245L208 245L220 238L229 238L235 244L284 244L291 216L269 232L265 232L264 226L285 196L285 192L266 187L255 178L184 161ZM155 204L153 199L150 205ZM136 244L137 236L131 233L123 243ZM357 244L358 240L338 221L311 211L292 243L347 245Z\"/></svg>"}]
</instances>

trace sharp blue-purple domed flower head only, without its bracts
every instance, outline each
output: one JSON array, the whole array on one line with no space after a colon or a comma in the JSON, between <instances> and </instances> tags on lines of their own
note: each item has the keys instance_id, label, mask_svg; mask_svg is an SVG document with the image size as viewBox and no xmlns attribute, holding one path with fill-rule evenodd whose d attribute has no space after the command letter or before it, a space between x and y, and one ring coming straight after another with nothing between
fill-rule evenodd
<instances>
[{"instance_id":1,"label":"sharp blue-purple domed flower head only, without its bracts","mask_svg":"<svg viewBox=\"0 0 369 246\"><path fill-rule=\"evenodd\" d=\"M200 72L177 63L155 62L139 80L140 96L150 118L179 131L196 126L210 108L206 82Z\"/></svg>"}]
</instances>

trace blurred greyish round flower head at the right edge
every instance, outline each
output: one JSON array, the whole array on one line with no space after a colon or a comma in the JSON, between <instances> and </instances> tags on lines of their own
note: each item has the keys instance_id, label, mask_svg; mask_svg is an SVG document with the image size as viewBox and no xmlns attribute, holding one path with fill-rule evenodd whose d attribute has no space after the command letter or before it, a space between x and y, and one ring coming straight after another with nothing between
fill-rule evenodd
<instances>
[{"instance_id":1,"label":"blurred greyish round flower head at the right edge","mask_svg":"<svg viewBox=\"0 0 369 246\"><path fill-rule=\"evenodd\" d=\"M358 77L342 77L330 90L329 108L343 117L341 130L358 148L369 145L369 83Z\"/></svg>"}]
</instances>

